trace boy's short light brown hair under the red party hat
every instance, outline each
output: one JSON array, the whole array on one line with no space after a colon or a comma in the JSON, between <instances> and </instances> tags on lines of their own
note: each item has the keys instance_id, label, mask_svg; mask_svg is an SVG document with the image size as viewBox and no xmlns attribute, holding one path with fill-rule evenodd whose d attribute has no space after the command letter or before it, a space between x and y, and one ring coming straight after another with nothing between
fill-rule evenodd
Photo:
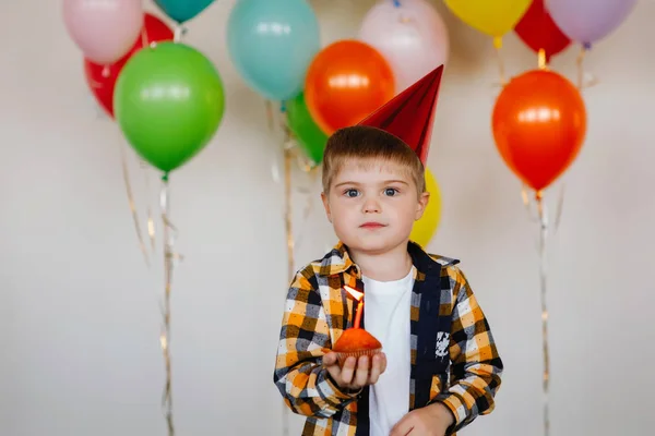
<instances>
[{"instance_id":1,"label":"boy's short light brown hair under the red party hat","mask_svg":"<svg viewBox=\"0 0 655 436\"><path fill-rule=\"evenodd\" d=\"M327 138L323 155L323 192L330 191L338 171L350 159L386 160L407 168L418 195L426 192L425 167L416 153L400 137L381 129L354 125L337 130Z\"/></svg>"}]
</instances>

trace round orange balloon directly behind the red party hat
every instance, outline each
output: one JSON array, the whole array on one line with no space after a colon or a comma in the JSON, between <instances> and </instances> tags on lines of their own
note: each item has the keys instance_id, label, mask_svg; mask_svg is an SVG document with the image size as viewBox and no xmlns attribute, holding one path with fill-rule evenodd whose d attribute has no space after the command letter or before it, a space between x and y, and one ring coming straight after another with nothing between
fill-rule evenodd
<instances>
[{"instance_id":1,"label":"round orange balloon directly behind the red party hat","mask_svg":"<svg viewBox=\"0 0 655 436\"><path fill-rule=\"evenodd\" d=\"M394 75L371 46L341 40L312 61L305 82L305 101L326 134L357 124L395 95Z\"/></svg>"}]
</instances>

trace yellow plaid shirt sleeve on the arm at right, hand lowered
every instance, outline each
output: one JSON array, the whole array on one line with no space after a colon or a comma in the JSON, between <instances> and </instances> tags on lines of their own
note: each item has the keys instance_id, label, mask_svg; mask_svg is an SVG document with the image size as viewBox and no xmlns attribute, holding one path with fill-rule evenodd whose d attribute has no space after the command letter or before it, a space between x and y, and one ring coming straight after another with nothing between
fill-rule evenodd
<instances>
[{"instance_id":1,"label":"yellow plaid shirt sleeve on the arm at right, hand lowered","mask_svg":"<svg viewBox=\"0 0 655 436\"><path fill-rule=\"evenodd\" d=\"M455 422L448 435L495 409L503 364L489 323L464 274L455 268L451 331L451 387L433 402L441 402Z\"/></svg>"}]
</instances>

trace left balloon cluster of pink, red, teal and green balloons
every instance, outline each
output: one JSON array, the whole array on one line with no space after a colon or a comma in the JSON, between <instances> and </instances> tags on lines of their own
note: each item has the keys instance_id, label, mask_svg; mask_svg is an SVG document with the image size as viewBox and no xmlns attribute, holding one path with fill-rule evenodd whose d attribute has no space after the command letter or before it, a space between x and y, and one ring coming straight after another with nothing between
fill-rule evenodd
<instances>
[{"instance_id":1,"label":"left balloon cluster of pink, red, teal and green balloons","mask_svg":"<svg viewBox=\"0 0 655 436\"><path fill-rule=\"evenodd\" d=\"M84 55L90 89L126 138L167 175L195 156L223 119L225 93L212 62L181 44L181 25L213 0L63 0L69 35Z\"/></svg>"}]
</instances>

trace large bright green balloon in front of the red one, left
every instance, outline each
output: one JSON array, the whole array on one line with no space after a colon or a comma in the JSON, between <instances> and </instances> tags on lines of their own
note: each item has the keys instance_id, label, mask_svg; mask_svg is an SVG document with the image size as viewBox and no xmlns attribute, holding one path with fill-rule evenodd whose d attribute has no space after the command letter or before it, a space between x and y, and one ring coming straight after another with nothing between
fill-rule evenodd
<instances>
[{"instance_id":1,"label":"large bright green balloon in front of the red one, left","mask_svg":"<svg viewBox=\"0 0 655 436\"><path fill-rule=\"evenodd\" d=\"M212 140L225 111L218 72L200 51L159 43L136 52L114 93L115 114L128 142L166 174Z\"/></svg>"}]
</instances>

